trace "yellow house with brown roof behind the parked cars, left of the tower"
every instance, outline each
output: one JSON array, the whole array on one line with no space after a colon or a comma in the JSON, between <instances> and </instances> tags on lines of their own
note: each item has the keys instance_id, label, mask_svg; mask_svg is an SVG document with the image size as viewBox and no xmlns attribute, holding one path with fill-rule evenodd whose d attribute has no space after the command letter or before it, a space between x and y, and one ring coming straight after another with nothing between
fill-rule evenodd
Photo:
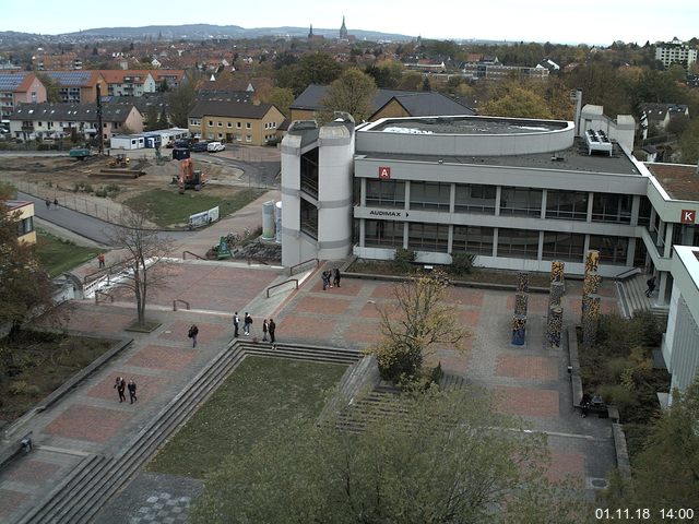
<instances>
[{"instance_id":1,"label":"yellow house with brown roof behind the parked cars, left of the tower","mask_svg":"<svg viewBox=\"0 0 699 524\"><path fill-rule=\"evenodd\" d=\"M265 145L277 138L284 115L272 104L200 102L189 114L189 131L205 140Z\"/></svg>"}]
</instances>

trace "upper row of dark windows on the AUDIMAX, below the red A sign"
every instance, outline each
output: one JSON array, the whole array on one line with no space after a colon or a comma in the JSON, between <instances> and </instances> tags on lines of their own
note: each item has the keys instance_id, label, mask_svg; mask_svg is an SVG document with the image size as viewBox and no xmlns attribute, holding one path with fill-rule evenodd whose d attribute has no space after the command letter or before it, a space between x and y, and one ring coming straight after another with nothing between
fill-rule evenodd
<instances>
[{"instance_id":1,"label":"upper row of dark windows on the AUDIMAX, below the red A sign","mask_svg":"<svg viewBox=\"0 0 699 524\"><path fill-rule=\"evenodd\" d=\"M411 182L411 210L449 212L451 183ZM455 213L483 213L495 215L497 187L483 184L454 184ZM502 187L500 215L542 216L543 190ZM546 218L587 221L590 193L583 191L556 191L546 193ZM615 224L631 223L630 194L594 193L592 221ZM369 207L405 207L405 182L401 180L367 180L366 205ZM639 222L650 217L650 205L640 210Z\"/></svg>"}]
</instances>

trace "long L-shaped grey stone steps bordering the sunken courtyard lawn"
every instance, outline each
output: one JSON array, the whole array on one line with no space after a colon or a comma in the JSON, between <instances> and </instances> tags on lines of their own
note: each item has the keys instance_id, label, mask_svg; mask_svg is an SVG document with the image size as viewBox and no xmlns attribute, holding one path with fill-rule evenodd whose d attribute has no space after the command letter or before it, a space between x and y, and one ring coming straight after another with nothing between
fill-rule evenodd
<instances>
[{"instance_id":1,"label":"long L-shaped grey stone steps bordering the sunken courtyard lawn","mask_svg":"<svg viewBox=\"0 0 699 524\"><path fill-rule=\"evenodd\" d=\"M21 524L88 523L138 471L157 448L185 424L197 408L248 356L312 360L351 365L360 354L351 349L321 346L256 344L236 341L222 350L177 394L131 441L112 456L86 456L46 497L19 521Z\"/></svg>"}]
</instances>

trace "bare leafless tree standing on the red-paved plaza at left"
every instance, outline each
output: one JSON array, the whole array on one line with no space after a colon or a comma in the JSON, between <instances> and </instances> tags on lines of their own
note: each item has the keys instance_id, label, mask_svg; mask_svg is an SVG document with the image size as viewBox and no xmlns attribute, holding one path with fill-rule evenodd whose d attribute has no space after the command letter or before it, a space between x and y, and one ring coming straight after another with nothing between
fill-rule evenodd
<instances>
[{"instance_id":1,"label":"bare leafless tree standing on the red-paved plaza at left","mask_svg":"<svg viewBox=\"0 0 699 524\"><path fill-rule=\"evenodd\" d=\"M133 291L138 323L144 325L149 290L166 286L167 273L155 269L170 251L171 240L152 229L146 210L125 207L115 223L110 241L127 251L121 286Z\"/></svg>"}]
</instances>

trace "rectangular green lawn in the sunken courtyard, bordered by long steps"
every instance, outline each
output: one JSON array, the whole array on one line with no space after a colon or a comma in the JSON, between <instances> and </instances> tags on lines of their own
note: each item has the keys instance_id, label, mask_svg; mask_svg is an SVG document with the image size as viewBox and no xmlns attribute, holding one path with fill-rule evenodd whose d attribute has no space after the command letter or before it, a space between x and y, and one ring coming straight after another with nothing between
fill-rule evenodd
<instances>
[{"instance_id":1,"label":"rectangular green lawn in the sunken courtyard, bordered by long steps","mask_svg":"<svg viewBox=\"0 0 699 524\"><path fill-rule=\"evenodd\" d=\"M246 357L147 469L203 478L223 456L240 455L272 428L315 418L344 366Z\"/></svg>"}]
</instances>

